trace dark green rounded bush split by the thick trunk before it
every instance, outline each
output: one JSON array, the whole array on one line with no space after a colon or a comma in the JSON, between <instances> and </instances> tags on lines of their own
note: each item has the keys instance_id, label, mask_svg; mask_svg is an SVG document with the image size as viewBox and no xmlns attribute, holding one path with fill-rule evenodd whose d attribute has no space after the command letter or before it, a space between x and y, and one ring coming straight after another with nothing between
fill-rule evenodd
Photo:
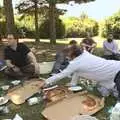
<instances>
[{"instance_id":1,"label":"dark green rounded bush split by the thick trunk before it","mask_svg":"<svg viewBox=\"0 0 120 120\"><path fill-rule=\"evenodd\" d=\"M49 38L50 28L49 28L49 20L43 21L39 28L40 38ZM65 26L62 23L62 20L56 20L56 38L63 38L65 35Z\"/></svg>"}]
</instances>

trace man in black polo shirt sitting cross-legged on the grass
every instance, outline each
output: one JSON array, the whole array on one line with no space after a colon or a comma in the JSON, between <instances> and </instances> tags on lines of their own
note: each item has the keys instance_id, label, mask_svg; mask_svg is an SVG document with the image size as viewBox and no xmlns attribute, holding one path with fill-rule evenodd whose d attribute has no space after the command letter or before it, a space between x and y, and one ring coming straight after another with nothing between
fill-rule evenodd
<instances>
[{"instance_id":1,"label":"man in black polo shirt sitting cross-legged on the grass","mask_svg":"<svg viewBox=\"0 0 120 120\"><path fill-rule=\"evenodd\" d=\"M34 54L12 34L7 36L8 46L4 49L7 69L5 75L10 79L29 79L38 77L39 67Z\"/></svg>"}]
</instances>

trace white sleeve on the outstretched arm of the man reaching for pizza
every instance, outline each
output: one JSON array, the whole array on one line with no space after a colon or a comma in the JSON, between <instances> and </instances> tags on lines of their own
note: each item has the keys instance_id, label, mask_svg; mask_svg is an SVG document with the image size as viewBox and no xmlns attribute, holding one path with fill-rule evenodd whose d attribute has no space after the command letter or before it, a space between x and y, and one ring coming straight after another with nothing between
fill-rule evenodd
<instances>
[{"instance_id":1,"label":"white sleeve on the outstretched arm of the man reaching for pizza","mask_svg":"<svg viewBox=\"0 0 120 120\"><path fill-rule=\"evenodd\" d=\"M74 63L70 63L68 65L68 67L63 70L61 73L58 73L50 78L48 78L45 82L46 84L52 84L54 82L57 82L60 79L63 79L69 75L71 75L72 73L74 73L78 68L78 65L74 64Z\"/></svg>"}]
</instances>

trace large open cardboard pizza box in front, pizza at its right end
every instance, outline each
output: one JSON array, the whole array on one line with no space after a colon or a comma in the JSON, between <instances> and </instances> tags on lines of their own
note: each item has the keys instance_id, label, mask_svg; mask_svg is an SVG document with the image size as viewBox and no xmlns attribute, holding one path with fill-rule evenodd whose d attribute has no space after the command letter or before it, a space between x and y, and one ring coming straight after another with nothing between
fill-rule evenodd
<instances>
[{"instance_id":1,"label":"large open cardboard pizza box in front, pizza at its right end","mask_svg":"<svg viewBox=\"0 0 120 120\"><path fill-rule=\"evenodd\" d=\"M95 105L92 107L84 104L92 99ZM104 98L99 98L86 91L70 94L66 98L48 104L42 115L48 120L70 120L76 115L93 115L104 107Z\"/></svg>"}]
</instances>

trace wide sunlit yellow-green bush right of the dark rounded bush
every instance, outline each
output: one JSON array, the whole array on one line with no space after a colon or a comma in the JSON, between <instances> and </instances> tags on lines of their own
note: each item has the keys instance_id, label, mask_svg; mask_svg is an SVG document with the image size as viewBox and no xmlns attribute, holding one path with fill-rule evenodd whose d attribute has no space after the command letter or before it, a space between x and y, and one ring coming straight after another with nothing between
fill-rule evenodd
<instances>
[{"instance_id":1,"label":"wide sunlit yellow-green bush right of the dark rounded bush","mask_svg":"<svg viewBox=\"0 0 120 120\"><path fill-rule=\"evenodd\" d=\"M88 17L69 18L64 20L66 37L85 37L87 32L92 36L98 35L98 23Z\"/></svg>"}]
</instances>

